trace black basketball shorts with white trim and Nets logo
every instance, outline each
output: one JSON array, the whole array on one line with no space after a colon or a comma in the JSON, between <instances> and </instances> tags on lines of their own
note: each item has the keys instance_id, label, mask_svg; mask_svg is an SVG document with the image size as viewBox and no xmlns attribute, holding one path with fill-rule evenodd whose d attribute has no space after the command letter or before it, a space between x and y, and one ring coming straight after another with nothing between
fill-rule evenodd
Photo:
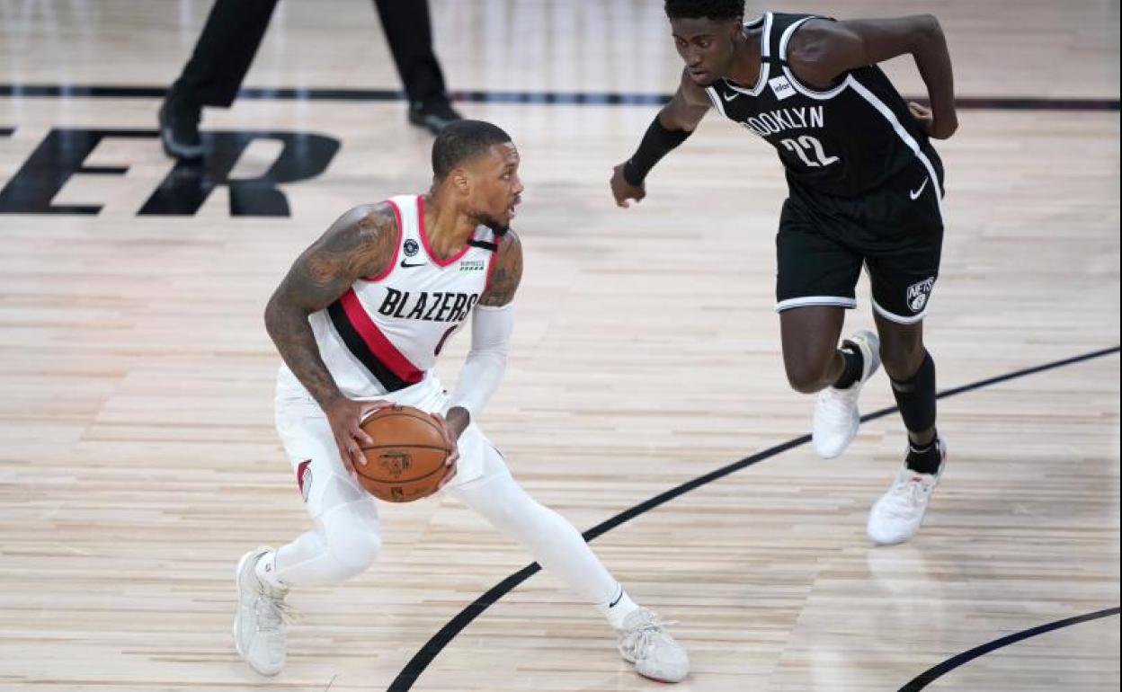
<instances>
[{"instance_id":1,"label":"black basketball shorts with white trim and Nets logo","mask_svg":"<svg viewBox=\"0 0 1122 692\"><path fill-rule=\"evenodd\" d=\"M938 157L931 149L925 155L927 163L917 159L856 197L791 184L775 237L778 312L856 307L854 289L864 266L880 316L900 324L923 319L939 277L944 191Z\"/></svg>"}]
</instances>

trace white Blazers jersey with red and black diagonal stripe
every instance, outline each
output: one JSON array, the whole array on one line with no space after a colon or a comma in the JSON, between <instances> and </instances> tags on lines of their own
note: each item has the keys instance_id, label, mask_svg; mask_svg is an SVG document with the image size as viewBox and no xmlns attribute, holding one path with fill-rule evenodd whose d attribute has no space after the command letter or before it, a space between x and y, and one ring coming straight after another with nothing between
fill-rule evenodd
<instances>
[{"instance_id":1,"label":"white Blazers jersey with red and black diagonal stripe","mask_svg":"<svg viewBox=\"0 0 1122 692\"><path fill-rule=\"evenodd\" d=\"M355 282L309 317L331 377L353 399L377 398L429 376L487 288L498 249L495 233L480 225L460 251L441 259L425 234L424 199L387 202L398 229L388 268Z\"/></svg>"}]
</instances>

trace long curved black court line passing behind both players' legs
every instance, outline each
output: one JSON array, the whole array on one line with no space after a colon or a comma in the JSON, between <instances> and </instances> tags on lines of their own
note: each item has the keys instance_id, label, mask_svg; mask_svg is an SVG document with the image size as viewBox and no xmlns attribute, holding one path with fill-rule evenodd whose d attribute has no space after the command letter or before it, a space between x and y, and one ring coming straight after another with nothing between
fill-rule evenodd
<instances>
[{"instance_id":1,"label":"long curved black court line passing behind both players' legs","mask_svg":"<svg viewBox=\"0 0 1122 692\"><path fill-rule=\"evenodd\" d=\"M1072 366L1075 363L1084 362L1086 360L1092 360L1095 358L1101 358L1103 356L1110 356L1111 353L1118 353L1120 347L1111 347L1107 349L1100 349L1097 351L1092 351L1089 353L1084 353L1082 356L1075 356L1073 358L1065 358L1064 360L1056 360L1042 366L1036 366L1032 368L1024 368L1023 370L1014 370L1013 372L1008 372L1005 375L999 375L997 377L991 377L988 379L978 380L976 382L971 382L969 385L963 385L962 387L955 387L953 389L947 389L938 394L938 398L944 399L959 394L965 394L967 391L974 391L975 389L982 389L983 387L988 387L991 385L996 385L1000 382L1005 382L1012 379L1018 379L1021 377L1027 377L1029 375L1036 375L1038 372L1045 372L1047 370L1055 370L1056 368L1063 368L1065 366ZM890 406L888 408L881 408L880 410L874 410L871 414L861 417L862 423L868 421L875 421L876 418L883 418L884 416L895 413L896 407ZM751 456L746 456L741 461L730 463L726 467L721 467L715 471L710 471L705 476L695 478L691 481L687 481L680 486L671 488L665 492L654 496L653 498L635 505L631 509L626 509L616 516L597 524L592 528L586 530L582 535L588 542L594 541L596 537L611 530L613 528L624 524L641 514L650 511L660 505L669 502L670 500L686 495L690 490L700 488L701 486L711 483L715 480L724 478L729 473L734 473L742 469L746 469L755 463L758 463L765 459L771 459L778 454L782 454L788 450L792 450L799 445L810 442L810 435L802 435L801 437L795 437L794 440L789 440L782 444L778 444L773 448L769 448L762 452L757 452ZM430 638L421 649L413 655L413 658L405 664L402 672L397 674L397 677L389 683L386 692L406 692L413 689L413 684L417 681L417 677L429 667L429 664L440 654L441 651L458 635L460 631L471 624L477 617L482 615L487 608L494 605L498 599L503 598L508 592L513 591L518 584L526 581L533 576L541 566L534 562L522 568L514 574L511 574L499 583L491 587L486 593L472 601L467 608L461 610L451 620L449 620L440 630Z\"/></svg>"}]
</instances>

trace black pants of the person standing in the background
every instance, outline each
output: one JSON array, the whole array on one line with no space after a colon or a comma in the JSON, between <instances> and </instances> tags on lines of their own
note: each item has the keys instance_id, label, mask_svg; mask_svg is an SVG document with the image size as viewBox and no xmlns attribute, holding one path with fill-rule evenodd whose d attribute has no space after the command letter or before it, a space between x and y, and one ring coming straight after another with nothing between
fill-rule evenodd
<instances>
[{"instance_id":1,"label":"black pants of the person standing in the background","mask_svg":"<svg viewBox=\"0 0 1122 692\"><path fill-rule=\"evenodd\" d=\"M277 0L217 0L173 90L202 105L233 103L276 6ZM375 6L410 101L443 98L427 0L375 0Z\"/></svg>"}]
</instances>

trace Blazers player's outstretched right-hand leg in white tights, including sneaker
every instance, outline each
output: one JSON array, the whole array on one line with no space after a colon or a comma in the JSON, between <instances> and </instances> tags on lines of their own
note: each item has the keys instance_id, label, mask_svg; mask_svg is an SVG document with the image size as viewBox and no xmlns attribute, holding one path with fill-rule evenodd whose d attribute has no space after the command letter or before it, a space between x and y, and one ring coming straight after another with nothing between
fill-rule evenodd
<instances>
[{"instance_id":1,"label":"Blazers player's outstretched right-hand leg in white tights, including sneaker","mask_svg":"<svg viewBox=\"0 0 1122 692\"><path fill-rule=\"evenodd\" d=\"M637 673L664 682L684 679L689 657L657 616L631 600L572 524L515 482L490 443L481 449L484 474L449 487L448 492L518 541L542 568L595 603L615 628L620 655Z\"/></svg>"}]
</instances>

